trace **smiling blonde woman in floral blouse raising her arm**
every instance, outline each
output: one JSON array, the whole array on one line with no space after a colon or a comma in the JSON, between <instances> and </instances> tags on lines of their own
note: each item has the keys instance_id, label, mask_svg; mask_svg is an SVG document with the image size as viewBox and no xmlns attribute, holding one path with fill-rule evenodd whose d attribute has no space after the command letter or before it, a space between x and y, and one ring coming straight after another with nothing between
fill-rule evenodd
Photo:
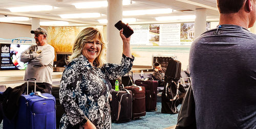
<instances>
[{"instance_id":1,"label":"smiling blonde woman in floral blouse raising her arm","mask_svg":"<svg viewBox=\"0 0 256 129\"><path fill-rule=\"evenodd\" d=\"M108 94L110 79L125 75L132 69L130 39L120 30L123 56L120 64L104 63L106 44L95 28L82 30L74 43L73 54L60 82L60 103L65 114L60 128L111 128Z\"/></svg>"}]
</instances>

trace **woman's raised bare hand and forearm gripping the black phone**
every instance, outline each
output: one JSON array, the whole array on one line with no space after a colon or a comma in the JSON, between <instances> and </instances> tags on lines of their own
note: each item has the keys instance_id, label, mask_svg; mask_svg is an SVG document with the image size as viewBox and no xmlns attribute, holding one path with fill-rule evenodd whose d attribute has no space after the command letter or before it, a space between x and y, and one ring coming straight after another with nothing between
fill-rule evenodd
<instances>
[{"instance_id":1,"label":"woman's raised bare hand and forearm gripping the black phone","mask_svg":"<svg viewBox=\"0 0 256 129\"><path fill-rule=\"evenodd\" d=\"M127 27L129 27L128 24L126 24L126 25L127 25ZM129 27L129 28L130 28L130 27ZM130 28L130 29L133 30L132 28ZM125 56L127 56L127 57L132 58L132 53L131 53L131 48L130 48L131 36L126 38L126 37L123 35L123 29L120 30L119 33L120 33L120 36L121 36L121 38L122 38L122 40L123 40L123 54L124 54Z\"/></svg>"}]
</instances>

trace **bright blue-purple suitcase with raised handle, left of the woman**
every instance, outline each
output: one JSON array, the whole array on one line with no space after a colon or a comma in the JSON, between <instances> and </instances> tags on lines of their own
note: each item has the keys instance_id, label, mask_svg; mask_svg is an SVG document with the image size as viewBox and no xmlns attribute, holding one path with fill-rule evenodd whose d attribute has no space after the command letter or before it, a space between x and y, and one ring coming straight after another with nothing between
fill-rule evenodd
<instances>
[{"instance_id":1,"label":"bright blue-purple suitcase with raised handle, left of the woman","mask_svg":"<svg viewBox=\"0 0 256 129\"><path fill-rule=\"evenodd\" d=\"M55 98L48 93L41 95L47 98L37 95L20 96L17 121L11 125L4 124L4 128L56 129Z\"/></svg>"}]
</instances>

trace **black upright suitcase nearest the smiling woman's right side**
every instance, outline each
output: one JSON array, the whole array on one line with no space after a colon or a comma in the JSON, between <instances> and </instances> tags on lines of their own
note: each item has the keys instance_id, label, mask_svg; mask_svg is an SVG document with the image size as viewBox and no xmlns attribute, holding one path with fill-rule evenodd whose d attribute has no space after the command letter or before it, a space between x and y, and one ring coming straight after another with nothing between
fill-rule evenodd
<instances>
[{"instance_id":1,"label":"black upright suitcase nearest the smiling woman's right side","mask_svg":"<svg viewBox=\"0 0 256 129\"><path fill-rule=\"evenodd\" d=\"M111 90L112 100L111 121L115 123L128 122L132 120L132 91L124 89L124 91Z\"/></svg>"}]
</instances>

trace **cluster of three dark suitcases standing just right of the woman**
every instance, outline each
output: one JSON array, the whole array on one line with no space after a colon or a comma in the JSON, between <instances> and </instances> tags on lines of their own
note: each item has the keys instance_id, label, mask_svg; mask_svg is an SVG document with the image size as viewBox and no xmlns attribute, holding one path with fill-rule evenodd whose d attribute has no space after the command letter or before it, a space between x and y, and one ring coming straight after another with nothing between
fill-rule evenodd
<instances>
[{"instance_id":1,"label":"cluster of three dark suitcases standing just right of the woman","mask_svg":"<svg viewBox=\"0 0 256 129\"><path fill-rule=\"evenodd\" d=\"M144 81L141 80L140 75L133 75L132 73L130 76L128 73L127 76L122 77L122 82L124 83L120 84L122 85L122 88L119 88L120 91L113 89L111 91L112 122L128 122L145 116L146 112L157 110L157 81ZM131 85L127 86L127 84Z\"/></svg>"}]
</instances>

